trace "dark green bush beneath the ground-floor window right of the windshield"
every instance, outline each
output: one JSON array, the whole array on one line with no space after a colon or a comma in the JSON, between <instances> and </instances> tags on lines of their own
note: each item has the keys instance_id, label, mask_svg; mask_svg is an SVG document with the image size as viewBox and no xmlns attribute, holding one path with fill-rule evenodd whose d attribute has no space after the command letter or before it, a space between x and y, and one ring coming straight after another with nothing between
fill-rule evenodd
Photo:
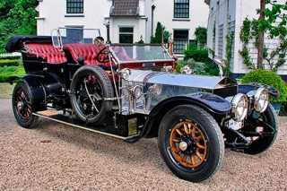
<instances>
[{"instance_id":1,"label":"dark green bush beneath the ground-floor window right of the windshield","mask_svg":"<svg viewBox=\"0 0 287 191\"><path fill-rule=\"evenodd\" d=\"M197 48L196 44L190 43L188 48L184 51L184 60L193 58L196 62L208 63L208 49Z\"/></svg>"}]
</instances>

